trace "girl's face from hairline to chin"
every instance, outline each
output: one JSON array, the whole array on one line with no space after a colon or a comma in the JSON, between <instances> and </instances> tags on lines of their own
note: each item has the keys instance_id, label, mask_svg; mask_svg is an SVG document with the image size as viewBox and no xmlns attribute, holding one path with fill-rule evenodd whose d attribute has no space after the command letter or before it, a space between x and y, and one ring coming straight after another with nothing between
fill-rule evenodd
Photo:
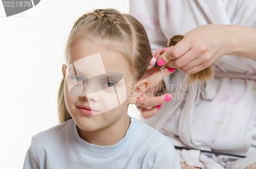
<instances>
[{"instance_id":1,"label":"girl's face from hairline to chin","mask_svg":"<svg viewBox=\"0 0 256 169\"><path fill-rule=\"evenodd\" d=\"M94 131L127 118L136 102L135 79L129 62L97 43L76 40L63 66L65 103L76 125Z\"/></svg>"}]
</instances>

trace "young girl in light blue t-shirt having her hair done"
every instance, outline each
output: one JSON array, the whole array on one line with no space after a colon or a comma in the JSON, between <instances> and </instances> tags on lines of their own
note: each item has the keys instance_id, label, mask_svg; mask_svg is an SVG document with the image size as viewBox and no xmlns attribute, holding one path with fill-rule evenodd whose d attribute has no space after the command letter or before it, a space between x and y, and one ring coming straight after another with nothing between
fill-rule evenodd
<instances>
[{"instance_id":1,"label":"young girl in light blue t-shirt having her hair done","mask_svg":"<svg viewBox=\"0 0 256 169\"><path fill-rule=\"evenodd\" d=\"M74 23L66 56L62 124L32 138L25 169L180 168L168 138L127 115L147 88L140 79L152 58L139 21L114 9L84 14Z\"/></svg>"}]
</instances>

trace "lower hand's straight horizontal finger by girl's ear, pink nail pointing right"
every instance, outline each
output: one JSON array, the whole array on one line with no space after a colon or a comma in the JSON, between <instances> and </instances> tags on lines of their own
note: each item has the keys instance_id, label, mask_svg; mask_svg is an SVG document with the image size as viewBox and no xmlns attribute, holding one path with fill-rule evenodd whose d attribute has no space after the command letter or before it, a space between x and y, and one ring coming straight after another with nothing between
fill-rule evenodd
<instances>
[{"instance_id":1,"label":"lower hand's straight horizontal finger by girl's ear, pink nail pointing right","mask_svg":"<svg viewBox=\"0 0 256 169\"><path fill-rule=\"evenodd\" d=\"M172 95L168 93L162 94L160 96L153 96L153 97L151 96L147 98L147 95L145 94L145 97L143 99L140 99L140 103L143 105L143 107L146 108L146 107L157 106L172 100Z\"/></svg>"}]
</instances>

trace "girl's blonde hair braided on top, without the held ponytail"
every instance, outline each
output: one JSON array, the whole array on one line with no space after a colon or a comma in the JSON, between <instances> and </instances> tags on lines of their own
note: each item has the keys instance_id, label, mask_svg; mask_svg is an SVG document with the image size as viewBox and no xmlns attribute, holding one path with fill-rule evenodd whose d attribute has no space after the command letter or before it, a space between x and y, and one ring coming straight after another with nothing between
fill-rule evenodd
<instances>
[{"instance_id":1,"label":"girl's blonde hair braided on top, without the held ponytail","mask_svg":"<svg viewBox=\"0 0 256 169\"><path fill-rule=\"evenodd\" d=\"M97 9L79 17L67 41L66 57L69 56L70 47L76 38L80 37L118 50L136 70L136 81L144 75L152 59L150 43L141 23L133 16L122 14L115 9ZM60 123L72 118L65 104L64 84L65 80L62 79L58 92Z\"/></svg>"}]
</instances>

